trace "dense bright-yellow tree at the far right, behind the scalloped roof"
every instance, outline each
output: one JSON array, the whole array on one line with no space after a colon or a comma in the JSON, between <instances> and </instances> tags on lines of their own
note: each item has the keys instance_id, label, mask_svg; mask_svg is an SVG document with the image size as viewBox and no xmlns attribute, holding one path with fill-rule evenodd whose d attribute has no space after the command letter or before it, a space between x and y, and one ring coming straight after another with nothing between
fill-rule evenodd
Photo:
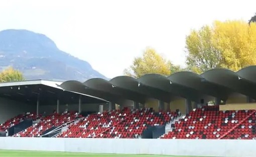
<instances>
[{"instance_id":1,"label":"dense bright-yellow tree at the far right, behind the scalloped roof","mask_svg":"<svg viewBox=\"0 0 256 157\"><path fill-rule=\"evenodd\" d=\"M215 23L213 36L222 54L220 66L237 71L256 64L256 24L243 21Z\"/></svg>"}]
</instances>

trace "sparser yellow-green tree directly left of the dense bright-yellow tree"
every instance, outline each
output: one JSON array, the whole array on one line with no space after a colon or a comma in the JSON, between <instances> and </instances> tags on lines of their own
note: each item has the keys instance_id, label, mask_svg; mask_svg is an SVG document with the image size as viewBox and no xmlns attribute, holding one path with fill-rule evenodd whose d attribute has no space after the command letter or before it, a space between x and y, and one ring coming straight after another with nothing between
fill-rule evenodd
<instances>
[{"instance_id":1,"label":"sparser yellow-green tree directly left of the dense bright-yellow tree","mask_svg":"<svg viewBox=\"0 0 256 157\"><path fill-rule=\"evenodd\" d=\"M212 29L204 26L199 31L193 30L186 38L186 64L189 70L201 73L218 67L221 55L214 47L212 37Z\"/></svg>"}]
</instances>

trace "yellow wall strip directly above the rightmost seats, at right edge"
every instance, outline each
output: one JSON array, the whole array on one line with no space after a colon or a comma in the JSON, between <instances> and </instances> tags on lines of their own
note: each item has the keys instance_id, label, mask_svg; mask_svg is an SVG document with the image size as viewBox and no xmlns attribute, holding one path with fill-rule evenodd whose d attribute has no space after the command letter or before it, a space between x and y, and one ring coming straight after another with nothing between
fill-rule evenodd
<instances>
[{"instance_id":1,"label":"yellow wall strip directly above the rightmost seats, at right edge","mask_svg":"<svg viewBox=\"0 0 256 157\"><path fill-rule=\"evenodd\" d=\"M220 105L219 110L248 110L256 109L256 103L232 103Z\"/></svg>"}]
</instances>

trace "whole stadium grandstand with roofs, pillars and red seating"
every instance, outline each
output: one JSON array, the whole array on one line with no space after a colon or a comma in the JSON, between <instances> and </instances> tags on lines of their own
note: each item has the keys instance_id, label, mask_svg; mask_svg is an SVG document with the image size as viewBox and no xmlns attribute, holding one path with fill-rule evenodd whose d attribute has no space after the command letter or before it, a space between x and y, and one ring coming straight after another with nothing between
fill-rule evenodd
<instances>
[{"instance_id":1,"label":"whole stadium grandstand with roofs, pillars and red seating","mask_svg":"<svg viewBox=\"0 0 256 157\"><path fill-rule=\"evenodd\" d=\"M255 139L256 66L0 84L0 136Z\"/></svg>"}]
</instances>

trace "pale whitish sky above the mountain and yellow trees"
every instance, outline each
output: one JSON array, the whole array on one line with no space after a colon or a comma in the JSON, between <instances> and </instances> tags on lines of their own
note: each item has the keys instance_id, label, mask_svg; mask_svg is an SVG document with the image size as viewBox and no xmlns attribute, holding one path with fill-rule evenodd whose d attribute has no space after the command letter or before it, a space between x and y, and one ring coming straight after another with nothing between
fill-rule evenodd
<instances>
[{"instance_id":1,"label":"pale whitish sky above the mountain and yellow trees","mask_svg":"<svg viewBox=\"0 0 256 157\"><path fill-rule=\"evenodd\" d=\"M248 21L255 6L248 0L1 0L0 31L45 34L59 49L112 78L148 46L184 66L191 29L214 20Z\"/></svg>"}]
</instances>

